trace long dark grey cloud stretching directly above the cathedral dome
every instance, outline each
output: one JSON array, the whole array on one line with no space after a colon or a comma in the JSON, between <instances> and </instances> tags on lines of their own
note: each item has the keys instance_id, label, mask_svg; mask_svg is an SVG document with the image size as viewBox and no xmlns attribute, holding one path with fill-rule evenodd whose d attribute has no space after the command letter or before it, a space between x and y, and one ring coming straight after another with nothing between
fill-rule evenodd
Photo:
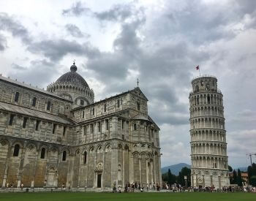
<instances>
[{"instance_id":1,"label":"long dark grey cloud stretching directly above the cathedral dome","mask_svg":"<svg viewBox=\"0 0 256 201\"><path fill-rule=\"evenodd\" d=\"M88 58L99 56L99 50L92 47L89 42L79 44L76 41L65 39L48 39L34 42L29 45L28 50L31 53L40 53L46 58L50 58L51 61L59 61L68 53Z\"/></svg>"}]
</instances>

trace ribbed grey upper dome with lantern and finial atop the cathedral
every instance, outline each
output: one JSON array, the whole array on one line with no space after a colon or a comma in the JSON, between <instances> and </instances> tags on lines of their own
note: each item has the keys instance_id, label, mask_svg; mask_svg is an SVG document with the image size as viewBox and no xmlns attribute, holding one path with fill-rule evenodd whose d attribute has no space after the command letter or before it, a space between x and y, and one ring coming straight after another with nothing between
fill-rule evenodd
<instances>
[{"instance_id":1,"label":"ribbed grey upper dome with lantern and finial atop the cathedral","mask_svg":"<svg viewBox=\"0 0 256 201\"><path fill-rule=\"evenodd\" d=\"M74 62L73 65L70 67L70 72L61 75L61 77L56 80L56 83L72 83L75 86L82 86L83 88L89 87L86 83L86 80L84 80L83 77L76 72L77 69L78 67L75 66Z\"/></svg>"}]
</instances>

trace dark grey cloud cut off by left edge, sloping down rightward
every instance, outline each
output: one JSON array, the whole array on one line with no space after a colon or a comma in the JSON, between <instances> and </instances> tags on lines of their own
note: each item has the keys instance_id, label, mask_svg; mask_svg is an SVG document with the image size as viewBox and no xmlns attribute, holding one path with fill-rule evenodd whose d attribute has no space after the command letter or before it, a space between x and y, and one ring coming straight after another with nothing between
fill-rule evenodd
<instances>
[{"instance_id":1,"label":"dark grey cloud cut off by left edge, sloping down rightward","mask_svg":"<svg viewBox=\"0 0 256 201\"><path fill-rule=\"evenodd\" d=\"M0 30L10 31L13 37L19 37L26 44L31 42L29 31L18 20L4 12L0 13Z\"/></svg>"}]
</instances>

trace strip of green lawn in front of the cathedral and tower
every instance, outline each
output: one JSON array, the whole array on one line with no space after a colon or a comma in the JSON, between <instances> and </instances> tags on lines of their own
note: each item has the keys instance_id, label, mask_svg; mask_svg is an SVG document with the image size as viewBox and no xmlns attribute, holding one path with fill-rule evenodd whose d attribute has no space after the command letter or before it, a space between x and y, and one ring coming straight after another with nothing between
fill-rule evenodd
<instances>
[{"instance_id":1,"label":"strip of green lawn in front of the cathedral and tower","mask_svg":"<svg viewBox=\"0 0 256 201\"><path fill-rule=\"evenodd\" d=\"M256 200L254 193L1 193L0 201L66 201L66 200L121 200L121 201L246 201Z\"/></svg>"}]
</instances>

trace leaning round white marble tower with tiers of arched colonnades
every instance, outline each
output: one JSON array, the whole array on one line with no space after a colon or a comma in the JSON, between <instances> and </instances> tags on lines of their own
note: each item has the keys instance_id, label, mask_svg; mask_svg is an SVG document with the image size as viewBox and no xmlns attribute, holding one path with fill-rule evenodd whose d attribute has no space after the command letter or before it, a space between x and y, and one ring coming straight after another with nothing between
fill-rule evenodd
<instances>
[{"instance_id":1,"label":"leaning round white marble tower with tiers of arched colonnades","mask_svg":"<svg viewBox=\"0 0 256 201\"><path fill-rule=\"evenodd\" d=\"M195 77L189 103L192 186L229 186L224 107L217 78Z\"/></svg>"}]
</instances>

